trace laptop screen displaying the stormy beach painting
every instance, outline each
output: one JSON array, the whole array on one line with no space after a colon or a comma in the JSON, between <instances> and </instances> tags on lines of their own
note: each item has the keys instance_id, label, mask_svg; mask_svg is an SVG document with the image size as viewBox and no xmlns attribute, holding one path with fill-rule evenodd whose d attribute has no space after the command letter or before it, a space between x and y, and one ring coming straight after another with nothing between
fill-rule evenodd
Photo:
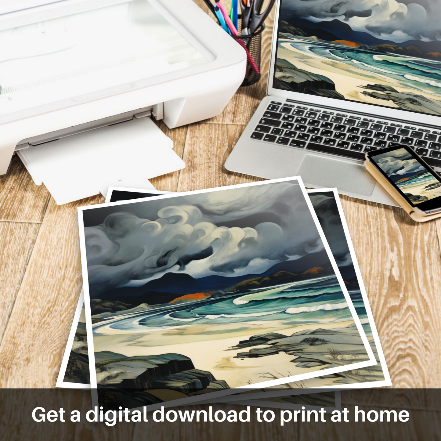
<instances>
[{"instance_id":1,"label":"laptop screen displaying the stormy beach painting","mask_svg":"<svg viewBox=\"0 0 441 441\"><path fill-rule=\"evenodd\" d=\"M441 115L439 0L281 0L275 89Z\"/></svg>"}]
</instances>

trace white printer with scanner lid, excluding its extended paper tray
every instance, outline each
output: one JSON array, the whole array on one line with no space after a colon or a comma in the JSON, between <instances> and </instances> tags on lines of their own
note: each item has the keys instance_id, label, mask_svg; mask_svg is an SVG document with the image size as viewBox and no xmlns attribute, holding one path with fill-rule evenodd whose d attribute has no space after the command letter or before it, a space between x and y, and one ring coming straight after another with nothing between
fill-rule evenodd
<instances>
[{"instance_id":1,"label":"white printer with scanner lid, excluding its extended paper tray","mask_svg":"<svg viewBox=\"0 0 441 441\"><path fill-rule=\"evenodd\" d=\"M15 151L92 129L215 116L245 68L245 51L192 0L2 1L0 175ZM133 144L121 155L136 157Z\"/></svg>"}]
</instances>

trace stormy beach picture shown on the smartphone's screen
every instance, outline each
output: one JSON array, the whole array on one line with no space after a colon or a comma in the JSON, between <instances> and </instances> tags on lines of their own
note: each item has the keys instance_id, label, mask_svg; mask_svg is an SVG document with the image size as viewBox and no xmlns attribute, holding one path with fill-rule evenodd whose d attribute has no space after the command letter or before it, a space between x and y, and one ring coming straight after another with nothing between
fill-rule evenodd
<instances>
[{"instance_id":1,"label":"stormy beach picture shown on the smartphone's screen","mask_svg":"<svg viewBox=\"0 0 441 441\"><path fill-rule=\"evenodd\" d=\"M441 196L441 182L406 149L380 153L371 159L414 204Z\"/></svg>"}]
</instances>

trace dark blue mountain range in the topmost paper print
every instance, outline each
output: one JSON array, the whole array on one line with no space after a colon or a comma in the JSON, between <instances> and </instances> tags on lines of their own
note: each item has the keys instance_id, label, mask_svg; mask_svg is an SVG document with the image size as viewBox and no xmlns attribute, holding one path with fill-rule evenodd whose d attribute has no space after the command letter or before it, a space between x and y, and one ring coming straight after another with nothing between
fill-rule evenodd
<instances>
[{"instance_id":1,"label":"dark blue mountain range in the topmost paper print","mask_svg":"<svg viewBox=\"0 0 441 441\"><path fill-rule=\"evenodd\" d=\"M241 282L243 279L266 277L277 271L305 271L313 266L323 265L329 265L329 258L325 250L319 253L307 254L298 260L280 262L262 274L249 274L247 276L238 277L208 276L194 279L185 273L166 273L160 279L151 280L145 285L109 289L96 296L96 298L114 299L116 297L123 297L124 299L121 301L125 303L127 297L139 297L139 303L134 306L138 306L140 303L148 303L149 305L167 303L172 299L181 297L182 295L193 294L195 292L217 291L219 289L226 290L227 288ZM145 299L144 295L148 295L149 293L153 293L155 298L158 297L158 299L163 295L164 301L161 299L161 301L153 302ZM175 295L175 297L170 297L171 294ZM143 300L141 301L141 299Z\"/></svg>"}]
</instances>

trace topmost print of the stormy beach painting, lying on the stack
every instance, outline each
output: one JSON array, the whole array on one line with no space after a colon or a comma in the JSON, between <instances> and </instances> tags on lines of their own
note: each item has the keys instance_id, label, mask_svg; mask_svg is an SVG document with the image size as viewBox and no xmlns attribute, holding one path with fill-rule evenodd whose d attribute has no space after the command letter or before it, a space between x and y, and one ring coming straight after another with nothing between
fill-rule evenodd
<instances>
[{"instance_id":1,"label":"topmost print of the stormy beach painting, lying on the stack","mask_svg":"<svg viewBox=\"0 0 441 441\"><path fill-rule=\"evenodd\" d=\"M136 407L372 365L305 196L291 178L80 209L98 387Z\"/></svg>"}]
</instances>

